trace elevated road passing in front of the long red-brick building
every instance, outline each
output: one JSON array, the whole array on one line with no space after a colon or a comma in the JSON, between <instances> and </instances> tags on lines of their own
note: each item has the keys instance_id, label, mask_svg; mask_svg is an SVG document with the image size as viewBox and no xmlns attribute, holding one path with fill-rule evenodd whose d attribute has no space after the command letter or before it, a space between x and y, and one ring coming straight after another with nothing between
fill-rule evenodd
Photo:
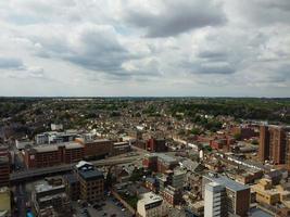
<instances>
[{"instance_id":1,"label":"elevated road passing in front of the long red-brick building","mask_svg":"<svg viewBox=\"0 0 290 217\"><path fill-rule=\"evenodd\" d=\"M94 166L110 166L110 165L117 165L117 164L126 164L131 163L134 161L141 159L140 156L130 156L130 157L121 157L121 158L108 158L108 159L100 159L90 162ZM73 169L75 164L66 164L66 165L59 165L53 167L46 167L46 168L37 168L37 169L28 169L25 171L13 173L10 175L10 181L12 183L25 182L29 181L35 178L40 178L43 176L53 176L59 174L65 174Z\"/></svg>"}]
</instances>

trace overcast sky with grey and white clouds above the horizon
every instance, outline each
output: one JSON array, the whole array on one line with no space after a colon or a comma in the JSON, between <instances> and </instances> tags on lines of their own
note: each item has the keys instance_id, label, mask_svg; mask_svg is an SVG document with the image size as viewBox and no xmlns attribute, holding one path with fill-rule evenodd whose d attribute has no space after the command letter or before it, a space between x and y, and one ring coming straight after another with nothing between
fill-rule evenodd
<instances>
[{"instance_id":1,"label":"overcast sky with grey and white clouds above the horizon","mask_svg":"<svg viewBox=\"0 0 290 217\"><path fill-rule=\"evenodd\" d=\"M2 0L0 95L290 97L290 1Z\"/></svg>"}]
</instances>

